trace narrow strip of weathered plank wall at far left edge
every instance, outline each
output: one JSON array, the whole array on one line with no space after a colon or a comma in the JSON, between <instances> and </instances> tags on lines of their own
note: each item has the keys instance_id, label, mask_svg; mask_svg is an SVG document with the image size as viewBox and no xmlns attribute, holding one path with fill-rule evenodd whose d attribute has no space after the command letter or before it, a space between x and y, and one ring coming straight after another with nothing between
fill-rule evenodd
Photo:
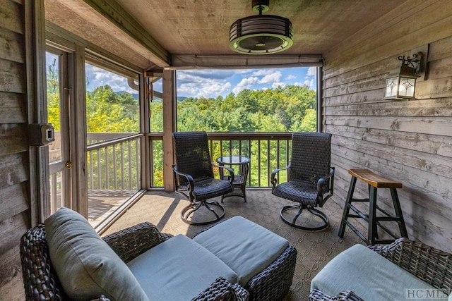
<instances>
[{"instance_id":1,"label":"narrow strip of weathered plank wall at far left edge","mask_svg":"<svg viewBox=\"0 0 452 301\"><path fill-rule=\"evenodd\" d=\"M30 228L24 1L0 4L0 299L23 300L18 245Z\"/></svg>"}]
</instances>

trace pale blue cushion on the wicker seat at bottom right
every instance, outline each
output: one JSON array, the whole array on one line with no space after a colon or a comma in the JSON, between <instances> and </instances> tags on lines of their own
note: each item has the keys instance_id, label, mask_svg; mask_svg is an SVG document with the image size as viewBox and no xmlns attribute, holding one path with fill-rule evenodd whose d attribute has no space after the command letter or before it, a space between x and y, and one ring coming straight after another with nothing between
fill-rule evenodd
<instances>
[{"instance_id":1,"label":"pale blue cushion on the wicker seat at bottom right","mask_svg":"<svg viewBox=\"0 0 452 301\"><path fill-rule=\"evenodd\" d=\"M311 290L328 295L352 290L366 301L405 300L407 289L433 288L364 245L334 257L311 281Z\"/></svg>"}]
</instances>

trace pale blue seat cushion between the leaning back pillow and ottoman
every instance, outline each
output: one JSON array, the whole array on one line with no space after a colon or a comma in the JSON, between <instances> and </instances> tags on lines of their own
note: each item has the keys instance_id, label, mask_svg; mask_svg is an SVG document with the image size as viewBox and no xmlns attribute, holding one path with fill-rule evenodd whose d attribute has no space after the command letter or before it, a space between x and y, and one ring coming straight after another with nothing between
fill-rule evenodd
<instances>
[{"instance_id":1,"label":"pale blue seat cushion between the leaning back pillow and ottoman","mask_svg":"<svg viewBox=\"0 0 452 301\"><path fill-rule=\"evenodd\" d=\"M150 300L191 300L218 277L237 283L237 274L185 235L156 245L127 263Z\"/></svg>"}]
</instances>

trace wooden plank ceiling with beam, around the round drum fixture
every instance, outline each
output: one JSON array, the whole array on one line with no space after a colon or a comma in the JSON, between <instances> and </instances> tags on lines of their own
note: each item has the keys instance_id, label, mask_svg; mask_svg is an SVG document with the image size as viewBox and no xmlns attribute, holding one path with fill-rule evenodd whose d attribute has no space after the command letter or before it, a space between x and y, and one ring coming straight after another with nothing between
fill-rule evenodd
<instances>
[{"instance_id":1,"label":"wooden plank ceiling with beam, around the round drum fixture","mask_svg":"<svg viewBox=\"0 0 452 301\"><path fill-rule=\"evenodd\" d=\"M251 0L45 0L46 20L143 69L171 54L232 55L230 25L255 15ZM389 11L393 0L270 0L265 14L292 21L283 54L324 54ZM138 40L138 41L137 41Z\"/></svg>"}]
</instances>

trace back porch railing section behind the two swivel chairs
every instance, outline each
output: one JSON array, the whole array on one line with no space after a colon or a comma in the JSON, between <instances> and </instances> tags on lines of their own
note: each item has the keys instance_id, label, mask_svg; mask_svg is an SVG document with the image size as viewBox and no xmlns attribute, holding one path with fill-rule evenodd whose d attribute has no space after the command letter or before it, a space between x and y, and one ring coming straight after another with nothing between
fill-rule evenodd
<instances>
[{"instance_id":1,"label":"back porch railing section behind the two swivel chairs","mask_svg":"<svg viewBox=\"0 0 452 301\"><path fill-rule=\"evenodd\" d=\"M151 133L148 137L152 175L151 186L162 187L163 135L162 133ZM242 155L249 157L247 187L270 187L270 174L273 169L287 166L290 160L292 133L208 133L208 138L210 154L214 162L219 156ZM282 172L278 176L285 178L287 174Z\"/></svg>"}]
</instances>

